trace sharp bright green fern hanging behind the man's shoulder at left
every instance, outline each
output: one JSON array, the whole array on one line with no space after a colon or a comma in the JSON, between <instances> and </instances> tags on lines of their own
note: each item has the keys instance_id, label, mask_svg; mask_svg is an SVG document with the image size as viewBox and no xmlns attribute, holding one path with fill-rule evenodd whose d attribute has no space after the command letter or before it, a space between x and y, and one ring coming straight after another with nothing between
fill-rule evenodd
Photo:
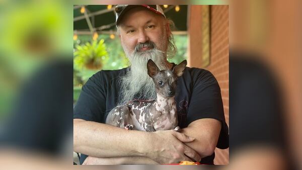
<instances>
[{"instance_id":1,"label":"sharp bright green fern hanging behind the man's shoulder at left","mask_svg":"<svg viewBox=\"0 0 302 170\"><path fill-rule=\"evenodd\" d=\"M104 39L92 43L87 42L85 45L77 45L73 52L74 65L80 69L101 69L108 60L108 53Z\"/></svg>"}]
</instances>

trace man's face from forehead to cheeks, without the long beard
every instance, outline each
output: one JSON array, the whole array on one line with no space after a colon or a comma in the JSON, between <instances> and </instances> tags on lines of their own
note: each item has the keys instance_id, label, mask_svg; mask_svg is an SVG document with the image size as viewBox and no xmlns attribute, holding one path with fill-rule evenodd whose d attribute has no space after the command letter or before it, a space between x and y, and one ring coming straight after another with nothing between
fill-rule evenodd
<instances>
[{"instance_id":1,"label":"man's face from forehead to cheeks, without the long beard","mask_svg":"<svg viewBox=\"0 0 302 170\"><path fill-rule=\"evenodd\" d=\"M127 56L133 53L136 45L153 42L158 50L167 51L168 37L164 18L145 8L134 8L128 11L120 23L121 43ZM137 49L146 52L147 46Z\"/></svg>"}]
</instances>

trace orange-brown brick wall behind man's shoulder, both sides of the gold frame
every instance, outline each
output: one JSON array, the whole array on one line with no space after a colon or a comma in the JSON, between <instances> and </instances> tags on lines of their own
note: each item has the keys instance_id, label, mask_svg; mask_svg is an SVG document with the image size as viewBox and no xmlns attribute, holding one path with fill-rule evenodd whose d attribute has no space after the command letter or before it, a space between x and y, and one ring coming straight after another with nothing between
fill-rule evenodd
<instances>
[{"instance_id":1,"label":"orange-brown brick wall behind man's shoulder, both sides of the gold frame","mask_svg":"<svg viewBox=\"0 0 302 170\"><path fill-rule=\"evenodd\" d=\"M201 23L196 22L200 21L200 6L191 6L189 15L189 66L201 68L202 48L196 41L201 39L196 35L202 32ZM210 32L210 64L205 69L212 72L219 83L224 116L229 125L229 6L210 7ZM216 148L215 154L215 164L229 164L229 149Z\"/></svg>"}]
</instances>

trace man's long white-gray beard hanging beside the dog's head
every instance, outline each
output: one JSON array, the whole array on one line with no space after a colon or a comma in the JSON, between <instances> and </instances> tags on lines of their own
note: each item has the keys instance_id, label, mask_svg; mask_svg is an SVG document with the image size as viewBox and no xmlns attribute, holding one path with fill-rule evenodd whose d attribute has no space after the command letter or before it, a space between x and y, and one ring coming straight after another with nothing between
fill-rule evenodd
<instances>
[{"instance_id":1,"label":"man's long white-gray beard hanging beside the dog's head","mask_svg":"<svg viewBox=\"0 0 302 170\"><path fill-rule=\"evenodd\" d=\"M130 69L121 77L121 91L119 105L135 99L152 100L157 94L153 79L147 74L147 61L152 59L160 70L168 69L166 54L156 48L146 52L134 51L130 56Z\"/></svg>"}]
</instances>

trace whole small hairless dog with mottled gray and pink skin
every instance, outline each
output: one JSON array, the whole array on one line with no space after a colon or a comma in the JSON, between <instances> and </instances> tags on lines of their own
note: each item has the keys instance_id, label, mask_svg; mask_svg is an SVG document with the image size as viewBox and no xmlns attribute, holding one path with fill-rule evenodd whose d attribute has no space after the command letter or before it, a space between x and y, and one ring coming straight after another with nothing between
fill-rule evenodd
<instances>
[{"instance_id":1,"label":"whole small hairless dog with mottled gray and pink skin","mask_svg":"<svg viewBox=\"0 0 302 170\"><path fill-rule=\"evenodd\" d=\"M160 71L156 64L149 60L148 75L153 78L156 85L157 99L135 100L117 106L109 112L106 124L146 132L171 129L179 131L174 97L177 77L182 75L186 64L184 60L173 70Z\"/></svg>"}]
</instances>

